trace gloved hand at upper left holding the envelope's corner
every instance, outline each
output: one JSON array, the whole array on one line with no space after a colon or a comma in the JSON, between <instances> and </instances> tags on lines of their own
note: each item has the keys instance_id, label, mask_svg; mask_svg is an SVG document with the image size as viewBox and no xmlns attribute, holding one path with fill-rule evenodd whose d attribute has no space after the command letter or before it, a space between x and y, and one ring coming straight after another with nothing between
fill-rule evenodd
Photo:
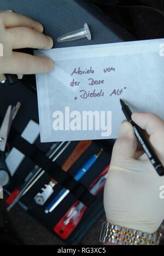
<instances>
[{"instance_id":1,"label":"gloved hand at upper left holding the envelope's corner","mask_svg":"<svg viewBox=\"0 0 164 256\"><path fill-rule=\"evenodd\" d=\"M22 48L52 48L52 38L43 34L43 26L37 21L12 11L0 11L0 43L0 74L19 74L21 78L22 74L49 72L54 68L49 58L13 52Z\"/></svg>"}]
</instances>

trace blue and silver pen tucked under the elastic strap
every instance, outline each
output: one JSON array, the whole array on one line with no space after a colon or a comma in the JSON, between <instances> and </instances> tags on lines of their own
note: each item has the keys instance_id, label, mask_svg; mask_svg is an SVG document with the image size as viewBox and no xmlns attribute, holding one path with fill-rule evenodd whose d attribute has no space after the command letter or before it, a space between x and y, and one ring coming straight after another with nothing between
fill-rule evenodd
<instances>
[{"instance_id":1,"label":"blue and silver pen tucked under the elastic strap","mask_svg":"<svg viewBox=\"0 0 164 256\"><path fill-rule=\"evenodd\" d=\"M81 178L85 175L87 171L90 170L90 168L95 164L97 161L99 155L101 155L103 149L101 149L98 154L92 155L89 160L85 162L85 164L78 170L78 172L75 174L74 179L75 181L80 181ZM54 211L54 209L59 205L59 203L65 199L65 197L69 194L69 190L66 188L63 188L50 202L50 204L46 207L45 213L49 213Z\"/></svg>"}]
</instances>

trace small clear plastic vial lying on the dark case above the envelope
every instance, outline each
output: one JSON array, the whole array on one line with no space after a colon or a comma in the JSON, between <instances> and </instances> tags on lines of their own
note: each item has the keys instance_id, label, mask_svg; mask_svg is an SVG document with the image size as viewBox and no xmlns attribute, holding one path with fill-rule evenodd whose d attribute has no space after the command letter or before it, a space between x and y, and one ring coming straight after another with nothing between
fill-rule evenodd
<instances>
[{"instance_id":1,"label":"small clear plastic vial lying on the dark case above the envelope","mask_svg":"<svg viewBox=\"0 0 164 256\"><path fill-rule=\"evenodd\" d=\"M58 43L71 42L71 41L78 40L85 37L88 40L92 39L89 26L86 23L84 24L84 28L81 28L80 30L72 31L70 33L65 34L64 36L58 37L57 42Z\"/></svg>"}]
</instances>

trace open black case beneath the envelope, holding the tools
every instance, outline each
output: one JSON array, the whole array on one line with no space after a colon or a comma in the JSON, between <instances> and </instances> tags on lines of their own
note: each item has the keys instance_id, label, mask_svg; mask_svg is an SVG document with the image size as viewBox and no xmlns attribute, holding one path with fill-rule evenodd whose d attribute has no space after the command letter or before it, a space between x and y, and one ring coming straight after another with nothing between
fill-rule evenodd
<instances>
[{"instance_id":1,"label":"open black case beneath the envelope, holding the tools","mask_svg":"<svg viewBox=\"0 0 164 256\"><path fill-rule=\"evenodd\" d=\"M133 38L118 25L114 24L101 10L97 9L95 5L87 0L1 0L1 10L13 10L16 13L29 16L30 18L41 22L44 25L44 33L48 34L54 39L55 47L70 47L80 45L104 44L133 40ZM84 23L91 28L92 40L81 39L74 42L58 44L56 39L67 32L83 27ZM26 51L33 53L33 51ZM36 86L34 75L28 76L26 79ZM34 91L29 90L20 82L15 85L0 85L1 100L0 100L0 116L1 120L4 117L5 111L9 104L15 105L21 102L22 106L14 121L13 127L20 134L24 131L30 120L37 123L38 120L38 105L37 95ZM77 146L78 142L72 142L67 150L57 160L58 165L62 165L72 150ZM104 151L99 157L96 164L91 170L81 179L80 183L84 187L89 188L90 184L95 178L109 165L114 140L93 141L91 146L80 157L80 159L73 165L70 174L74 174L84 162L90 158L99 149L103 148ZM46 153L51 147L52 143L40 143L39 139L36 146L39 150ZM10 145L12 147L12 145ZM18 168L13 176L10 187L8 188L11 193L17 185L24 181L27 174L32 170L35 163L26 158L21 166ZM56 210L51 214L44 213L45 206L38 206L34 202L34 196L40 191L44 184L50 181L50 176L45 173L42 178L34 185L34 187L21 199L21 202L28 208L28 212L36 217L40 222L47 226L52 232L54 225L61 219L63 214L67 212L69 207L76 201L73 194L70 194L66 199L58 205ZM61 185L57 185L54 194L50 197L48 202L54 197ZM48 203L46 203L48 204ZM83 219L77 228L69 236L65 243L67 245L78 245L80 241L88 234L92 225L97 222L104 212L103 208L103 191L97 196L96 200L87 208ZM101 228L101 227L100 227ZM55 234L55 232L54 232ZM98 238L97 238L98 239Z\"/></svg>"}]
</instances>

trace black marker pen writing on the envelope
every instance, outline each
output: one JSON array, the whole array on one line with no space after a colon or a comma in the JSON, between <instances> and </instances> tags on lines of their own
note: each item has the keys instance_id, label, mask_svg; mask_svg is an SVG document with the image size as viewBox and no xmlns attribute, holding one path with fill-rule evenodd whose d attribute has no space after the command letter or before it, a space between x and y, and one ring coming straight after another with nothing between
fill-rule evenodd
<instances>
[{"instance_id":1,"label":"black marker pen writing on the envelope","mask_svg":"<svg viewBox=\"0 0 164 256\"><path fill-rule=\"evenodd\" d=\"M137 124L135 124L134 121L132 120L132 112L131 112L130 107L128 107L125 104L125 102L122 100L120 100L120 103L122 106L122 111L124 112L127 121L129 121L132 124L134 133L135 133L136 137L138 138L138 141L140 142L144 152L147 154L151 164L154 166L156 172L160 176L164 176L164 167L163 167L161 161L159 160L159 158L156 156L150 142L145 137L145 134L144 134L145 131L142 128L140 128Z\"/></svg>"}]
</instances>

